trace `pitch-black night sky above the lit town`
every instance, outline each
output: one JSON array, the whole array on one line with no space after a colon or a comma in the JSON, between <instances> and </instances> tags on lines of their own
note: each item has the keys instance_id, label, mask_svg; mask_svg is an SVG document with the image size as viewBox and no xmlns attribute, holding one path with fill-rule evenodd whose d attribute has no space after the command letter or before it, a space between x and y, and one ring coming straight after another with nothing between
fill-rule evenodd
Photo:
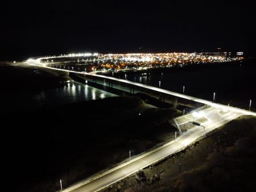
<instances>
[{"instance_id":1,"label":"pitch-black night sky above the lit town","mask_svg":"<svg viewBox=\"0 0 256 192\"><path fill-rule=\"evenodd\" d=\"M0 60L218 47L255 54L249 1L2 1L0 16Z\"/></svg>"}]
</instances>

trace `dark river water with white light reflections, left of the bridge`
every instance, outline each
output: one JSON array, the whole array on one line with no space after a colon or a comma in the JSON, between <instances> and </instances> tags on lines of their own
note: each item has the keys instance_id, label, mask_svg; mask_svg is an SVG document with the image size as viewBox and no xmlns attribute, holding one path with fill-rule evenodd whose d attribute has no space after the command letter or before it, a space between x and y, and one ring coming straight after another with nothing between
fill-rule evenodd
<instances>
[{"instance_id":1,"label":"dark river water with white light reflections, left of the bridge","mask_svg":"<svg viewBox=\"0 0 256 192\"><path fill-rule=\"evenodd\" d=\"M15 88L14 88L15 89ZM26 89L27 90L27 89ZM67 103L89 101L115 96L112 93L80 84L76 81L63 82L63 87L43 91L17 91L1 95L1 113L29 110L39 107L57 106Z\"/></svg>"}]
</instances>

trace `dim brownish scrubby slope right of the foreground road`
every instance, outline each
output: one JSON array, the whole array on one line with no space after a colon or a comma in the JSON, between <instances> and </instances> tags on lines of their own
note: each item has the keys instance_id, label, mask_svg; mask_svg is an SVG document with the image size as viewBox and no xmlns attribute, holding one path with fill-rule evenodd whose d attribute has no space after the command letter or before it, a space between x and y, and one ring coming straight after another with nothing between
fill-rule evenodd
<instances>
[{"instance_id":1,"label":"dim brownish scrubby slope right of the foreground road","mask_svg":"<svg viewBox=\"0 0 256 192\"><path fill-rule=\"evenodd\" d=\"M104 191L253 191L256 118L242 116Z\"/></svg>"}]
</instances>

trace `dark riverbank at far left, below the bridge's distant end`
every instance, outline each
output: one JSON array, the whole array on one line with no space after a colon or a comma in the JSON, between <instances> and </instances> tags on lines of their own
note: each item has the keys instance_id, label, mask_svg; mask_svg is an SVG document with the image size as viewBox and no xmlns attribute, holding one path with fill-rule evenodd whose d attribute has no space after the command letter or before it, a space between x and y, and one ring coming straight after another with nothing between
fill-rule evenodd
<instances>
[{"instance_id":1,"label":"dark riverbank at far left, below the bridge's distant end","mask_svg":"<svg viewBox=\"0 0 256 192\"><path fill-rule=\"evenodd\" d=\"M13 86L19 91L46 90L61 87L61 82L68 80L71 78L67 72L22 63L0 63L1 85L8 93L13 91Z\"/></svg>"}]
</instances>

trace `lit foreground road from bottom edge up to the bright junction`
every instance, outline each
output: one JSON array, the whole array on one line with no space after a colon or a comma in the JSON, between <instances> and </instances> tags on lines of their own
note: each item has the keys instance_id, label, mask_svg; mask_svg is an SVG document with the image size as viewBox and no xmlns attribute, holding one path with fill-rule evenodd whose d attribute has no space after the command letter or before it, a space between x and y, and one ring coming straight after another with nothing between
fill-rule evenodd
<instances>
[{"instance_id":1,"label":"lit foreground road from bottom edge up to the bright junction","mask_svg":"<svg viewBox=\"0 0 256 192\"><path fill-rule=\"evenodd\" d=\"M76 185L68 187L65 192L84 192L84 191L98 191L104 189L106 186L111 185L114 182L121 180L131 174L137 172L140 169L145 168L161 160L164 157L172 155L173 153L183 149L187 145L191 144L193 141L198 139L205 133L214 130L214 128L220 127L222 124L228 123L230 120L236 119L238 116L243 115L242 113L235 112L225 112L221 114L222 110L217 108L208 108L204 112L204 118L208 119L206 122L201 123L205 126L203 127L195 126L191 124L191 129L187 132L182 133L176 140L171 141L163 145L162 147L156 148L150 152L147 152L139 157L136 157L128 162L125 162L116 168L107 170L95 177L89 178L88 180L81 181ZM221 116L221 118L220 118Z\"/></svg>"}]
</instances>

